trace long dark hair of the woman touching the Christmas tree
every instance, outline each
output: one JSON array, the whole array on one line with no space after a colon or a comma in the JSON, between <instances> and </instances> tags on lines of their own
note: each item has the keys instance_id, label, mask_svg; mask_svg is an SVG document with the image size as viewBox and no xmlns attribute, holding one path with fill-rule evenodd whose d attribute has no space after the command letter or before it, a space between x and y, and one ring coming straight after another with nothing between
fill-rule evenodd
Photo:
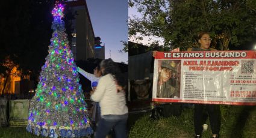
<instances>
[{"instance_id":1,"label":"long dark hair of the woman touching the Christmas tree","mask_svg":"<svg viewBox=\"0 0 256 138\"><path fill-rule=\"evenodd\" d=\"M122 86L123 88L126 86L125 79L123 78L120 68L111 58L101 61L101 68L105 69L102 76L111 74L116 80L117 85Z\"/></svg>"}]
</instances>

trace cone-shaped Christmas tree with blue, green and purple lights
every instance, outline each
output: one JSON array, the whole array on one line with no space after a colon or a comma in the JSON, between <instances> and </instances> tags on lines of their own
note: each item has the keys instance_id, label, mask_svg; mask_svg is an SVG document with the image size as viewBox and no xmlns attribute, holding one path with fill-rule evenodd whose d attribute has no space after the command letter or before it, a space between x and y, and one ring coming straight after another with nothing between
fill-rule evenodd
<instances>
[{"instance_id":1,"label":"cone-shaped Christmas tree with blue, green and purple lights","mask_svg":"<svg viewBox=\"0 0 256 138\"><path fill-rule=\"evenodd\" d=\"M37 136L81 137L92 134L87 104L62 20L64 6L52 10L54 30L49 54L30 102L27 130Z\"/></svg>"}]
</instances>

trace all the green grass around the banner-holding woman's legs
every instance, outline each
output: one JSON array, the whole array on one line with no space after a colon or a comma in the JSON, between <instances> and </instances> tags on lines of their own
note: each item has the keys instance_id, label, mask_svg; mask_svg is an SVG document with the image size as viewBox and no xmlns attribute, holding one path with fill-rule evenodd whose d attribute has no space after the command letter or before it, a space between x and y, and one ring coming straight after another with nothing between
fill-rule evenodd
<instances>
[{"instance_id":1,"label":"all the green grass around the banner-holding woman's legs","mask_svg":"<svg viewBox=\"0 0 256 138\"><path fill-rule=\"evenodd\" d=\"M220 105L221 137L256 137L256 107ZM211 137L209 128L202 137ZM149 115L140 118L131 128L129 137L193 137L193 109L184 109L181 116L151 120Z\"/></svg>"}]
</instances>

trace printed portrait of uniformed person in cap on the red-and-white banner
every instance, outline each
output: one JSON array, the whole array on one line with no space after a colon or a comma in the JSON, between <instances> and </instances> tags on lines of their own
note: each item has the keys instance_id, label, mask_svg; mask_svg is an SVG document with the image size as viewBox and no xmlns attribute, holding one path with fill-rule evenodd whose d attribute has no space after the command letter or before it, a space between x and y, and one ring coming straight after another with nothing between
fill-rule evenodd
<instances>
[{"instance_id":1,"label":"printed portrait of uniformed person in cap on the red-and-white banner","mask_svg":"<svg viewBox=\"0 0 256 138\"><path fill-rule=\"evenodd\" d=\"M180 60L160 60L158 65L157 97L180 98ZM180 74L179 74L180 75Z\"/></svg>"}]
</instances>

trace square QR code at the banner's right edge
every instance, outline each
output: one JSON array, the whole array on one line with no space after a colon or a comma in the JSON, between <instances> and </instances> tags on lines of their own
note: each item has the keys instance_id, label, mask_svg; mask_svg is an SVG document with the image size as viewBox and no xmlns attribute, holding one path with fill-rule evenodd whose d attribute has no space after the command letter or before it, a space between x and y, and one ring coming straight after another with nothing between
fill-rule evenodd
<instances>
[{"instance_id":1,"label":"square QR code at the banner's right edge","mask_svg":"<svg viewBox=\"0 0 256 138\"><path fill-rule=\"evenodd\" d=\"M255 74L255 61L242 61L241 74Z\"/></svg>"}]
</instances>

